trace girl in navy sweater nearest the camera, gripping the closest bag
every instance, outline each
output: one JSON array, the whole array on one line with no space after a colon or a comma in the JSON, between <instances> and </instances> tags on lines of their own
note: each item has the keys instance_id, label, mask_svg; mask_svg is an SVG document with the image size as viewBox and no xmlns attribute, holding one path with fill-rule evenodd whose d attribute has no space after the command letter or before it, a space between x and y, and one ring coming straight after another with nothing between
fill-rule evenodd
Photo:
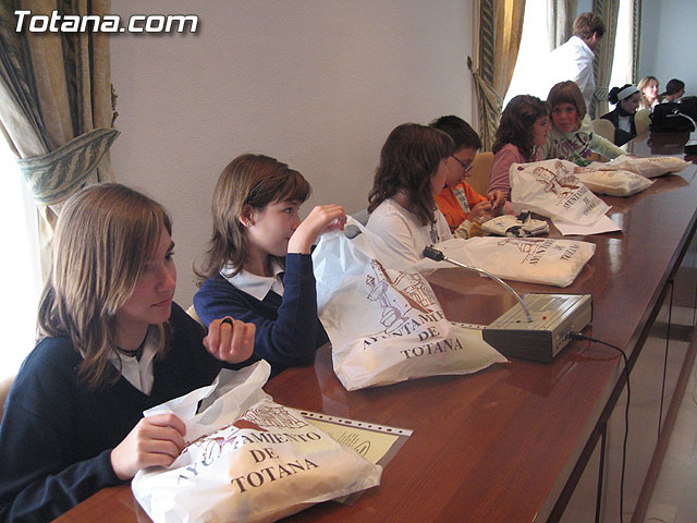
<instances>
[{"instance_id":1,"label":"girl in navy sweater nearest the camera, gripping the closest bag","mask_svg":"<svg viewBox=\"0 0 697 523\"><path fill-rule=\"evenodd\" d=\"M254 326L209 332L172 302L171 221L150 198L94 185L63 207L39 308L41 339L0 426L0 516L52 520L97 490L169 465L186 428L143 411L252 354Z\"/></svg>"}]
</instances>

